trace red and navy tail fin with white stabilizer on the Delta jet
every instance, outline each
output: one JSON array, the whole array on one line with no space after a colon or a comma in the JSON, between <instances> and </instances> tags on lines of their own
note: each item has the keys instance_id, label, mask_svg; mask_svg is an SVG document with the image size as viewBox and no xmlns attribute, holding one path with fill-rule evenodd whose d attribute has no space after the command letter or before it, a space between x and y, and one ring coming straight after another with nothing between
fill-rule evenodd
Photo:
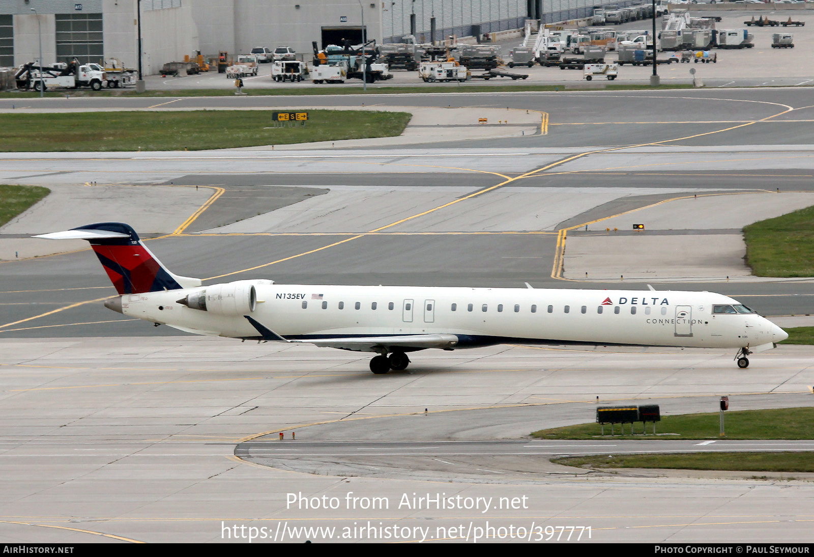
<instances>
[{"instance_id":1,"label":"red and navy tail fin with white stabilizer on the Delta jet","mask_svg":"<svg viewBox=\"0 0 814 557\"><path fill-rule=\"evenodd\" d=\"M182 277L167 270L138 238L136 231L123 222L97 222L34 238L88 240L119 294L201 285L200 278Z\"/></svg>"}]
</instances>

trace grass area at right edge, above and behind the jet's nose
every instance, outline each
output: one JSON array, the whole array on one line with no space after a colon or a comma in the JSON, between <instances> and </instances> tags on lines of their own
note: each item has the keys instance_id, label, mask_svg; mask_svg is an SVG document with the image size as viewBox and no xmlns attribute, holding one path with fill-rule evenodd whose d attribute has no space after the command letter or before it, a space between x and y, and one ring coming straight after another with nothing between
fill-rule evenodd
<instances>
[{"instance_id":1,"label":"grass area at right edge, above and behind the jet's nose","mask_svg":"<svg viewBox=\"0 0 814 557\"><path fill-rule=\"evenodd\" d=\"M814 207L744 227L746 263L760 277L814 276Z\"/></svg>"}]
</instances>

